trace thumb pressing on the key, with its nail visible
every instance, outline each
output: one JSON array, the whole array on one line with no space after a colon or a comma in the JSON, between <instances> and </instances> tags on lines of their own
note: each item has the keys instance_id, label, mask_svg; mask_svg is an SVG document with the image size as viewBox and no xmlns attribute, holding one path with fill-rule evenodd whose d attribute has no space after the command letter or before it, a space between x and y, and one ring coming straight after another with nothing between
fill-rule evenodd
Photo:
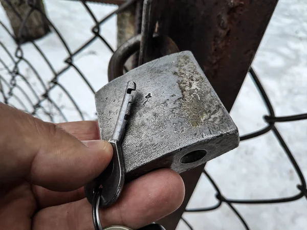
<instances>
[{"instance_id":1,"label":"thumb pressing on the key, with its nail visible","mask_svg":"<svg viewBox=\"0 0 307 230\"><path fill-rule=\"evenodd\" d=\"M108 165L106 141L80 142L52 123L0 103L0 181L25 178L55 191L80 188Z\"/></svg>"}]
</instances>

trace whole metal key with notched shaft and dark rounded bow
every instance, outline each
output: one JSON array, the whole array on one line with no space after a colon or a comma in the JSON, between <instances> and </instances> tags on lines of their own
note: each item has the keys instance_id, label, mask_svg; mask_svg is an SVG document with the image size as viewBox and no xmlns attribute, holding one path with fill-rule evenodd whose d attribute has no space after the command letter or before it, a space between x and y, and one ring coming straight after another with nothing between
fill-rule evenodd
<instances>
[{"instance_id":1,"label":"whole metal key with notched shaft and dark rounded bow","mask_svg":"<svg viewBox=\"0 0 307 230\"><path fill-rule=\"evenodd\" d=\"M85 186L85 195L93 206L93 198L98 198L99 202L96 204L98 208L105 208L113 204L118 199L124 185L125 167L121 142L130 114L131 103L133 102L133 95L131 95L133 90L136 90L136 83L128 81L113 136L111 140L109 140L109 143L111 143L113 147L112 161L103 173ZM99 194L99 197L97 194Z\"/></svg>"}]
</instances>

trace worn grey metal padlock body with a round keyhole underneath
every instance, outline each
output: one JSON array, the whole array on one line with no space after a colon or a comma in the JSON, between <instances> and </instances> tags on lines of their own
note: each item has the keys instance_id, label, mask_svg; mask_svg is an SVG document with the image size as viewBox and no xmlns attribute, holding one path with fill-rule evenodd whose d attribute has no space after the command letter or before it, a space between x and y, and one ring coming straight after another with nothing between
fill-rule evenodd
<instances>
[{"instance_id":1,"label":"worn grey metal padlock body with a round keyhole underneath","mask_svg":"<svg viewBox=\"0 0 307 230\"><path fill-rule=\"evenodd\" d=\"M164 56L96 93L101 139L111 139L123 100L137 85L122 141L125 181L159 168L182 173L238 146L238 129L189 51Z\"/></svg>"}]
</instances>

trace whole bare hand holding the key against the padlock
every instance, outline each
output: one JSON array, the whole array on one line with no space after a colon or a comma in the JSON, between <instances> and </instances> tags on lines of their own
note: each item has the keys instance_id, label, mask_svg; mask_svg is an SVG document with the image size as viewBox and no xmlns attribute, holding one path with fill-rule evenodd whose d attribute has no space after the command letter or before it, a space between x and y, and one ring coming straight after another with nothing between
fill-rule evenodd
<instances>
[{"instance_id":1,"label":"whole bare hand holding the key against the padlock","mask_svg":"<svg viewBox=\"0 0 307 230\"><path fill-rule=\"evenodd\" d=\"M112 159L95 121L52 124L0 103L0 229L94 229L83 186ZM103 226L140 228L176 210L184 183L169 169L127 183Z\"/></svg>"}]
</instances>

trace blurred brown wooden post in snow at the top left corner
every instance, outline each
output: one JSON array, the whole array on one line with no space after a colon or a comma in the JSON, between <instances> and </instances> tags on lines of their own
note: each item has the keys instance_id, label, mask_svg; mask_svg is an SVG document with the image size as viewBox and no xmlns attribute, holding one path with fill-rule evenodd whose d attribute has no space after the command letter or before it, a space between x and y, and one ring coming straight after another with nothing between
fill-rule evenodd
<instances>
[{"instance_id":1,"label":"blurred brown wooden post in snow at the top left corner","mask_svg":"<svg viewBox=\"0 0 307 230\"><path fill-rule=\"evenodd\" d=\"M0 0L10 20L15 40L19 43L40 38L50 32L48 20L40 13L41 11L46 14L42 0L31 1L40 11L28 5L27 2L26 0Z\"/></svg>"}]
</instances>

